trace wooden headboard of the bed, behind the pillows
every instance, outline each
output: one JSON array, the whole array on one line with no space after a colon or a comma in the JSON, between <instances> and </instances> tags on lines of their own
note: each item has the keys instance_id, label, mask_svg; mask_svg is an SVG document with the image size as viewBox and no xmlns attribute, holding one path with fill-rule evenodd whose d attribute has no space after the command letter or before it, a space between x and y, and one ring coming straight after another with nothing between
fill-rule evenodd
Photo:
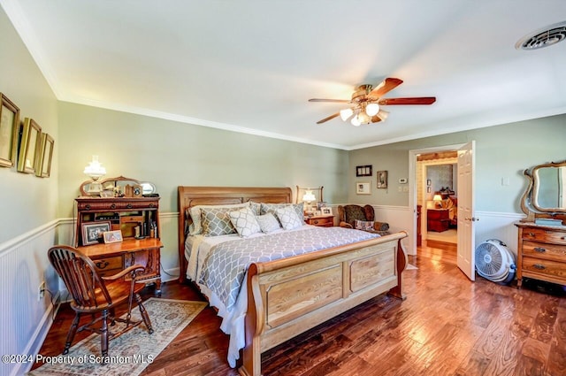
<instances>
[{"instance_id":1,"label":"wooden headboard of the bed, behind the pillows","mask_svg":"<svg viewBox=\"0 0 566 376\"><path fill-rule=\"evenodd\" d=\"M185 187L179 186L179 267L180 282L184 282L187 272L185 259L185 237L192 219L187 209L195 205L224 205L231 203L291 203L291 188L252 188L252 187Z\"/></svg>"}]
</instances>

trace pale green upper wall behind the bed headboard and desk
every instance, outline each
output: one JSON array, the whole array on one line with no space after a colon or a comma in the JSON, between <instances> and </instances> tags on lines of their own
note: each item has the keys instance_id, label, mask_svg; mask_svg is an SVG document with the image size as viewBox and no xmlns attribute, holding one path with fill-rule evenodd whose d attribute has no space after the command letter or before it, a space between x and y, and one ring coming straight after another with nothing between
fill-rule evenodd
<instances>
[{"instance_id":1,"label":"pale green upper wall behind the bed headboard and desk","mask_svg":"<svg viewBox=\"0 0 566 376\"><path fill-rule=\"evenodd\" d=\"M88 180L92 155L106 177L126 176L157 186L161 211L177 211L177 187L324 186L329 203L348 197L348 152L172 120L59 104L59 207L73 213L73 199Z\"/></svg>"}]
</instances>

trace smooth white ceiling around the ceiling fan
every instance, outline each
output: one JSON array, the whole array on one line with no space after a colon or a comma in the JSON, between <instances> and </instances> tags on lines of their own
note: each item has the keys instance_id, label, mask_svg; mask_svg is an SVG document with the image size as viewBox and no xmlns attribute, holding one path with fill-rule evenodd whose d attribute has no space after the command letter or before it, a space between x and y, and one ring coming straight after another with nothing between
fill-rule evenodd
<instances>
[{"instance_id":1,"label":"smooth white ceiling around the ceiling fan","mask_svg":"<svg viewBox=\"0 0 566 376\"><path fill-rule=\"evenodd\" d=\"M0 0L57 98L353 150L566 113L566 42L516 50L563 0ZM404 83L353 127L356 85Z\"/></svg>"}]
</instances>

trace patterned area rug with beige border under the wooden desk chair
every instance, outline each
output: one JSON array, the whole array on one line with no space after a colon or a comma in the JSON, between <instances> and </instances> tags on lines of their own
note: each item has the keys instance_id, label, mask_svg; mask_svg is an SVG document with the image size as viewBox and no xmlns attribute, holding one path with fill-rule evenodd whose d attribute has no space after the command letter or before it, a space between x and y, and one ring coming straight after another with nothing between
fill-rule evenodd
<instances>
[{"instance_id":1,"label":"patterned area rug with beige border under the wooden desk chair","mask_svg":"<svg viewBox=\"0 0 566 376\"><path fill-rule=\"evenodd\" d=\"M46 357L41 367L27 374L34 376L139 375L173 338L180 334L200 311L203 311L207 303L151 297L143 305L148 311L154 333L149 334L142 323L113 339L108 346L107 364L100 362L100 335L92 334L73 345L68 354ZM135 320L140 319L140 311L137 307L134 310L132 317ZM59 363L47 363L49 360Z\"/></svg>"}]
</instances>

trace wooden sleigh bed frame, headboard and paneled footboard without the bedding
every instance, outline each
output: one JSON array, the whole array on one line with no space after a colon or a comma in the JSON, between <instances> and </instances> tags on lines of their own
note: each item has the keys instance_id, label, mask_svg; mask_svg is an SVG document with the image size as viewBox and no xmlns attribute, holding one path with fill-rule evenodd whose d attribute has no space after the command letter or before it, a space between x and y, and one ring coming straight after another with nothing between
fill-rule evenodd
<instances>
[{"instance_id":1,"label":"wooden sleigh bed frame, headboard and paneled footboard without the bedding","mask_svg":"<svg viewBox=\"0 0 566 376\"><path fill-rule=\"evenodd\" d=\"M185 241L195 205L291 203L290 188L179 187L180 281L186 278ZM261 375L261 354L372 297L404 299L405 232L249 265L245 347L239 372ZM242 285L242 288L244 286Z\"/></svg>"}]
</instances>

